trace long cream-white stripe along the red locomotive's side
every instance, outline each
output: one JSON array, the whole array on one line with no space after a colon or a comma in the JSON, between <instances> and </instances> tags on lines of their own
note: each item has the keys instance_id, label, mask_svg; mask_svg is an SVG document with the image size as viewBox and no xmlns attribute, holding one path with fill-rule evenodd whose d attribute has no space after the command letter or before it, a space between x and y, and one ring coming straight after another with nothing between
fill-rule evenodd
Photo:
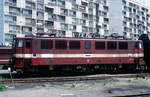
<instances>
[{"instance_id":1,"label":"long cream-white stripe along the red locomotive's side","mask_svg":"<svg viewBox=\"0 0 150 97\"><path fill-rule=\"evenodd\" d=\"M16 58L116 58L116 57L144 57L144 54L14 54Z\"/></svg>"}]
</instances>

